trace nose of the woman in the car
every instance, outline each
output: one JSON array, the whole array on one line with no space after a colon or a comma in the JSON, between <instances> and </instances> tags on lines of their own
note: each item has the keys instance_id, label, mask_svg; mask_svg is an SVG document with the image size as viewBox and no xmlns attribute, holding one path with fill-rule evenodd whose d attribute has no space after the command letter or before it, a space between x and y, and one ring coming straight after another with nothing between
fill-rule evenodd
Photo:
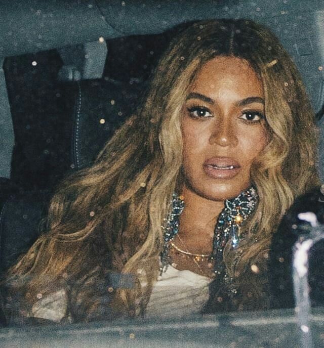
<instances>
[{"instance_id":1,"label":"nose of the woman in the car","mask_svg":"<svg viewBox=\"0 0 324 348\"><path fill-rule=\"evenodd\" d=\"M233 147L237 144L235 127L230 117L220 117L211 126L210 144Z\"/></svg>"}]
</instances>

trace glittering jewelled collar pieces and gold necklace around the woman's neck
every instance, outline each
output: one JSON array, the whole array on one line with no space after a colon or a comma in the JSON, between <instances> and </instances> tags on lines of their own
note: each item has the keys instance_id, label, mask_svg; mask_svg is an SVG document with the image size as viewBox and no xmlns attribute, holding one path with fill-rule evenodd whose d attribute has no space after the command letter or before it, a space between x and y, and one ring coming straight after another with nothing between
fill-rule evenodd
<instances>
[{"instance_id":1,"label":"glittering jewelled collar pieces and gold necklace around the woman's neck","mask_svg":"<svg viewBox=\"0 0 324 348\"><path fill-rule=\"evenodd\" d=\"M160 254L160 273L165 272L168 266L172 264L170 256L170 247L172 247L185 257L192 258L199 269L198 263L208 260L213 266L215 276L223 275L225 279L228 279L223 262L224 247L228 241L230 241L232 248L238 247L241 238L241 224L253 214L257 204L258 194L254 187L241 192L235 198L226 199L224 208L219 215L214 229L213 250L211 254L197 254L180 249L173 241L178 235L180 214L184 209L184 198L174 194L170 204L170 213L167 219L165 219L165 225L162 226L164 232L164 248ZM178 237L180 238L179 235Z\"/></svg>"}]
</instances>

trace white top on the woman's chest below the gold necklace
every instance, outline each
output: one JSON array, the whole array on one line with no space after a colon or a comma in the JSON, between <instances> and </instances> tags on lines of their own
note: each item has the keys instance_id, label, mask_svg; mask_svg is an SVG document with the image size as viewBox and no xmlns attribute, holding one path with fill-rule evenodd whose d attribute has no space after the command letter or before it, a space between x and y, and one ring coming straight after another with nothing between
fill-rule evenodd
<instances>
[{"instance_id":1,"label":"white top on the woman's chest below the gold necklace","mask_svg":"<svg viewBox=\"0 0 324 348\"><path fill-rule=\"evenodd\" d=\"M209 297L210 278L168 266L158 277L146 307L146 318L179 318L199 313Z\"/></svg>"}]
</instances>

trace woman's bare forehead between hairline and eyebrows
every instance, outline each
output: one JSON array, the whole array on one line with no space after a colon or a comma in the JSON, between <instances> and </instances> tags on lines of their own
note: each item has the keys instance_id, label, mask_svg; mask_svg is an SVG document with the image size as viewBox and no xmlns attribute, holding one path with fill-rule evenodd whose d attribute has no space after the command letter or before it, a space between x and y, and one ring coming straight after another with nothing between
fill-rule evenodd
<instances>
[{"instance_id":1,"label":"woman's bare forehead between hairline and eyebrows","mask_svg":"<svg viewBox=\"0 0 324 348\"><path fill-rule=\"evenodd\" d=\"M216 99L229 94L238 99L264 96L259 76L247 61L236 57L216 57L203 65L191 91Z\"/></svg>"}]
</instances>

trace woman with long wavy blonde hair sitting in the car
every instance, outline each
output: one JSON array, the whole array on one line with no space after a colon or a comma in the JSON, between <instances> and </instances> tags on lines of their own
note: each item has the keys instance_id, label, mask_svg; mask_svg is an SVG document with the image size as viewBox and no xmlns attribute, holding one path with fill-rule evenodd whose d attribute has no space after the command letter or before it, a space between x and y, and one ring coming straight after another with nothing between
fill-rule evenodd
<instances>
[{"instance_id":1,"label":"woman with long wavy blonde hair sitting in the car","mask_svg":"<svg viewBox=\"0 0 324 348\"><path fill-rule=\"evenodd\" d=\"M137 115L57 190L48 233L8 276L8 316L13 303L54 321L270 308L271 237L318 185L313 119L266 28L190 24Z\"/></svg>"}]
</instances>

